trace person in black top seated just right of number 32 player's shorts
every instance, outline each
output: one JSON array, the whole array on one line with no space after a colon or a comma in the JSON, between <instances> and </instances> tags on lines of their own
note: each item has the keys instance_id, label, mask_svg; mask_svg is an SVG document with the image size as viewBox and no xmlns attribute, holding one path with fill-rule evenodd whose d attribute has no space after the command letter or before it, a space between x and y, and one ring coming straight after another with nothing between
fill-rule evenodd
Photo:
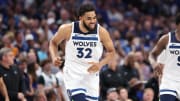
<instances>
[{"instance_id":1,"label":"person in black top seated just right of number 32 player's shorts","mask_svg":"<svg viewBox=\"0 0 180 101\"><path fill-rule=\"evenodd\" d=\"M105 100L109 88L127 87L128 81L123 78L119 67L119 55L109 61L107 69L100 73L100 95Z\"/></svg>"}]
</instances>

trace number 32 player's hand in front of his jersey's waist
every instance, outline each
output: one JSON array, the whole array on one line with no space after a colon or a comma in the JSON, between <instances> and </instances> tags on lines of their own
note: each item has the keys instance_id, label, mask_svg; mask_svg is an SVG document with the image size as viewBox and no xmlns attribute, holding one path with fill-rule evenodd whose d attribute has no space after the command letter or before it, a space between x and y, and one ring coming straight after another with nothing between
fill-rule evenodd
<instances>
[{"instance_id":1,"label":"number 32 player's hand in front of his jersey's waist","mask_svg":"<svg viewBox=\"0 0 180 101\"><path fill-rule=\"evenodd\" d=\"M95 62L88 62L89 64L92 64L91 67L88 68L88 72L89 73L96 73L100 70L101 66L99 63L95 63Z\"/></svg>"}]
</instances>

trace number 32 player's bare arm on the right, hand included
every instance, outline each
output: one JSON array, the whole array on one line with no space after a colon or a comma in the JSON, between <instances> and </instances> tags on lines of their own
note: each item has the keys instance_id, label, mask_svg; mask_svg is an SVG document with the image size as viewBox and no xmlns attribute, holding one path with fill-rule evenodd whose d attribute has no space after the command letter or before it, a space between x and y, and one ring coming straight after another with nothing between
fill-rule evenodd
<instances>
[{"instance_id":1,"label":"number 32 player's bare arm on the right, hand included","mask_svg":"<svg viewBox=\"0 0 180 101\"><path fill-rule=\"evenodd\" d=\"M92 63L92 62L90 63L92 64L92 66L88 69L90 73L97 72L98 70L100 70L101 67L107 64L108 61L110 61L115 55L113 42L109 36L108 31L104 29L103 27L100 27L99 35L100 35L101 42L106 49L106 55L99 63Z\"/></svg>"}]
</instances>

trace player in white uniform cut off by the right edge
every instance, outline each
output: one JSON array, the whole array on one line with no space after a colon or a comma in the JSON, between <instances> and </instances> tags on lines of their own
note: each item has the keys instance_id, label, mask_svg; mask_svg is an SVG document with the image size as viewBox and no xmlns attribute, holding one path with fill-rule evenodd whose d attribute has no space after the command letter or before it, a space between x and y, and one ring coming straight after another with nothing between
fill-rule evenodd
<instances>
[{"instance_id":1,"label":"player in white uniform cut off by the right edge","mask_svg":"<svg viewBox=\"0 0 180 101\"><path fill-rule=\"evenodd\" d=\"M166 58L164 66L156 61L161 52ZM180 98L180 14L176 17L176 30L159 39L149 60L154 69L162 74L160 101L177 101Z\"/></svg>"}]
</instances>

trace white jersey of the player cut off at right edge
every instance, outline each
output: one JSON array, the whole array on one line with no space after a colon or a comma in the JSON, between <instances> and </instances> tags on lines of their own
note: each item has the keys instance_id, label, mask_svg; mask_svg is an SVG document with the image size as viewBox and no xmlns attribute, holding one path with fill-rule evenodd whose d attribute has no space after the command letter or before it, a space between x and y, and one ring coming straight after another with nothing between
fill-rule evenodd
<instances>
[{"instance_id":1,"label":"white jersey of the player cut off at right edge","mask_svg":"<svg viewBox=\"0 0 180 101\"><path fill-rule=\"evenodd\" d=\"M175 37L175 32L169 32L169 42L165 50L165 58L163 79L180 81L180 41Z\"/></svg>"}]
</instances>

